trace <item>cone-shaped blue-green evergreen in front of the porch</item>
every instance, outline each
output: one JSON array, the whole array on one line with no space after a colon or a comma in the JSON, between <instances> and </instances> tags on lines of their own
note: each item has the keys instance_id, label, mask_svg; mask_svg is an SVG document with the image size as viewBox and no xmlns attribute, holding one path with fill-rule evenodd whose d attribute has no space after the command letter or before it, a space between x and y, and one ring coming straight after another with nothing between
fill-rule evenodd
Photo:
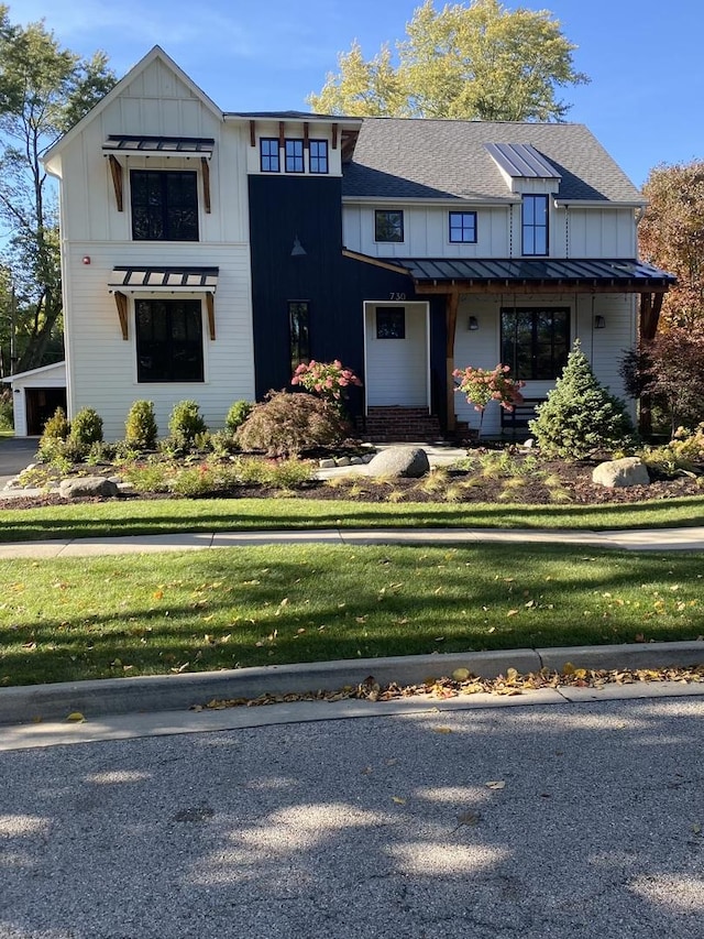
<instances>
[{"instance_id":1,"label":"cone-shaped blue-green evergreen in front of the porch","mask_svg":"<svg viewBox=\"0 0 704 939\"><path fill-rule=\"evenodd\" d=\"M576 339L554 389L528 425L549 458L582 460L598 450L628 449L634 427L623 401L600 384Z\"/></svg>"}]
</instances>

